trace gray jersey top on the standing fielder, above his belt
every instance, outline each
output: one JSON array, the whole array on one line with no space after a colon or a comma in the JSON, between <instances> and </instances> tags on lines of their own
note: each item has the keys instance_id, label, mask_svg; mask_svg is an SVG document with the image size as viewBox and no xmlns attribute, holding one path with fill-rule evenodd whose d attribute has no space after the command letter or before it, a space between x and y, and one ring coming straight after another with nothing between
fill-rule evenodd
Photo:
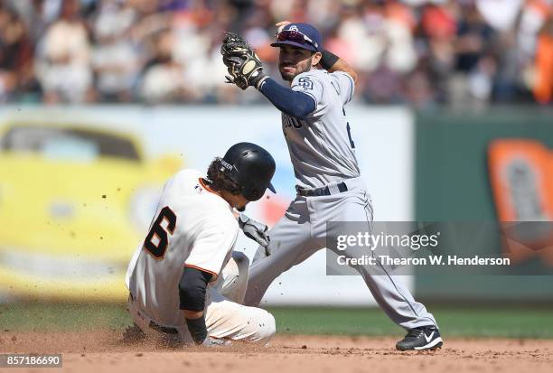
<instances>
[{"instance_id":1,"label":"gray jersey top on the standing fielder, above his belt","mask_svg":"<svg viewBox=\"0 0 553 373\"><path fill-rule=\"evenodd\" d=\"M351 129L344 105L353 97L355 84L342 71L309 70L298 74L291 89L314 98L308 117L282 113L282 128L298 185L319 188L360 175Z\"/></svg>"}]
</instances>

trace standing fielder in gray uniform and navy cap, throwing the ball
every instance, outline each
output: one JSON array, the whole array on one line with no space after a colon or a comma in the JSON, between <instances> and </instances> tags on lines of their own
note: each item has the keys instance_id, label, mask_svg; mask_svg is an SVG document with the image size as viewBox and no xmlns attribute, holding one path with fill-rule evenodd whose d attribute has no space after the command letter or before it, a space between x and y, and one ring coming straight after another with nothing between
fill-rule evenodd
<instances>
[{"instance_id":1,"label":"standing fielder in gray uniform and navy cap, throwing the ball","mask_svg":"<svg viewBox=\"0 0 553 373\"><path fill-rule=\"evenodd\" d=\"M277 23L278 67L290 87L263 73L258 56L239 35L227 33L221 54L240 89L258 89L282 112L282 127L297 179L295 200L260 246L249 268L245 304L258 305L267 287L290 267L326 246L327 221L372 222L371 200L355 157L355 143L344 106L357 75L348 63L322 48L320 33L306 23ZM321 66L322 69L317 69ZM342 253L343 254L343 253ZM346 250L346 256L354 256ZM380 307L408 333L398 350L442 346L434 316L407 287L389 275L355 266Z\"/></svg>"}]
</instances>

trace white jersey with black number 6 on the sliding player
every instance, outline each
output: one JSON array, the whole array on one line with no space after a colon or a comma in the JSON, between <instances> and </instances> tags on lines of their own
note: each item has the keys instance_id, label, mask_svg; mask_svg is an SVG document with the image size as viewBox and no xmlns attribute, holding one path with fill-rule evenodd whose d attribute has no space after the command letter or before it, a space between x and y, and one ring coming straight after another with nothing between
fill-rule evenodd
<instances>
[{"instance_id":1,"label":"white jersey with black number 6 on the sliding player","mask_svg":"<svg viewBox=\"0 0 553 373\"><path fill-rule=\"evenodd\" d=\"M165 183L145 241L127 268L126 283L140 308L162 325L185 324L178 284L184 266L219 275L239 233L230 204L183 170Z\"/></svg>"}]
</instances>

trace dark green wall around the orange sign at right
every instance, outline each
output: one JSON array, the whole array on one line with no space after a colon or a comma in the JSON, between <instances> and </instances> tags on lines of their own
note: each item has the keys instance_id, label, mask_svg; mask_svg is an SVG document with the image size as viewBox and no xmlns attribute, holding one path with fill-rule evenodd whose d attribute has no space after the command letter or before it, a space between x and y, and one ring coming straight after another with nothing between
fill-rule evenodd
<instances>
[{"instance_id":1,"label":"dark green wall around the orange sign at right","mask_svg":"<svg viewBox=\"0 0 553 373\"><path fill-rule=\"evenodd\" d=\"M496 219L488 177L487 146L493 139L539 139L553 149L553 110L498 108L484 114L418 113L416 122L416 218L430 221ZM501 252L501 247L492 248ZM417 268L417 297L432 301L550 301L553 277L428 275Z\"/></svg>"}]
</instances>

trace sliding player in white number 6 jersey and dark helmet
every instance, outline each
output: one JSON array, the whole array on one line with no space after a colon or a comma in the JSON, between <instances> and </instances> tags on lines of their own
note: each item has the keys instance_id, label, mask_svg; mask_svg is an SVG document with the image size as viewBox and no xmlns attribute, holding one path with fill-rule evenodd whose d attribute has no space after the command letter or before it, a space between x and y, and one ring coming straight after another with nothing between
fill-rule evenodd
<instances>
[{"instance_id":1,"label":"sliding player in white number 6 jersey and dark helmet","mask_svg":"<svg viewBox=\"0 0 553 373\"><path fill-rule=\"evenodd\" d=\"M138 331L171 344L203 346L230 340L266 344L273 337L274 317L241 305L249 262L232 249L239 228L264 242L264 226L244 216L237 220L235 210L267 188L275 191L274 173L275 161L265 149L239 143L211 163L207 176L189 169L165 183L150 231L127 269L135 337Z\"/></svg>"}]
</instances>

